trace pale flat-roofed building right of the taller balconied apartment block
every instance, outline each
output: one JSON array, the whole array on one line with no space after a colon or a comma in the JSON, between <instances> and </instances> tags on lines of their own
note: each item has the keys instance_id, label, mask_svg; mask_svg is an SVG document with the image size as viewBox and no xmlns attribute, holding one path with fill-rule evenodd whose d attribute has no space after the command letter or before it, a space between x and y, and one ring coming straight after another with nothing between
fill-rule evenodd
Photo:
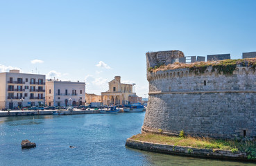
<instances>
[{"instance_id":1,"label":"pale flat-roofed building right of the taller balconied apartment block","mask_svg":"<svg viewBox=\"0 0 256 166\"><path fill-rule=\"evenodd\" d=\"M55 107L85 105L85 82L46 80L46 104Z\"/></svg>"}]
</instances>

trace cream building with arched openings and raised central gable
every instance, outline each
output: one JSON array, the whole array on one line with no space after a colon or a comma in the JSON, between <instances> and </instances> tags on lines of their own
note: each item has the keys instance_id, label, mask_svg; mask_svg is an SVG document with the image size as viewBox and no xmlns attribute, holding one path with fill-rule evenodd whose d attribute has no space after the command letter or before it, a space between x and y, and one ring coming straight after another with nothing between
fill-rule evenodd
<instances>
[{"instance_id":1,"label":"cream building with arched openings and raised central gable","mask_svg":"<svg viewBox=\"0 0 256 166\"><path fill-rule=\"evenodd\" d=\"M133 84L121 83L121 77L115 76L114 80L108 82L109 89L101 92L101 101L104 105L129 104L129 96L133 93Z\"/></svg>"}]
</instances>

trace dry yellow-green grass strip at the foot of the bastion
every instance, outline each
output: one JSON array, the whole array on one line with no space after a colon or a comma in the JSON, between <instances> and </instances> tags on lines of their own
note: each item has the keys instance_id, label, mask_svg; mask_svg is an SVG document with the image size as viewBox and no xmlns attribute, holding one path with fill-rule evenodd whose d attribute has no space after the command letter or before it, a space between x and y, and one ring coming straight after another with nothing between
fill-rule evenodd
<instances>
[{"instance_id":1,"label":"dry yellow-green grass strip at the foot of the bastion","mask_svg":"<svg viewBox=\"0 0 256 166\"><path fill-rule=\"evenodd\" d=\"M241 142L237 140L218 140L212 138L195 138L191 136L176 137L156 133L139 133L131 137L131 139L183 147L221 149L230 150L232 152L244 151L248 155L250 155L250 158L256 158L256 145L255 142L252 141Z\"/></svg>"}]
</instances>

